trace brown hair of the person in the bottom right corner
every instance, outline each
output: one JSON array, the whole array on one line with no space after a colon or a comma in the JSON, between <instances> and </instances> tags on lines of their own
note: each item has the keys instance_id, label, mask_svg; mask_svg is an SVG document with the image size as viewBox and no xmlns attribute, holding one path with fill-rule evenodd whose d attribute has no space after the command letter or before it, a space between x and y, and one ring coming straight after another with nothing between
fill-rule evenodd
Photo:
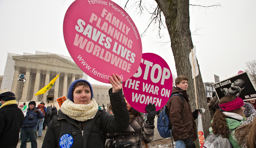
<instances>
[{"instance_id":1,"label":"brown hair of the person in the bottom right corner","mask_svg":"<svg viewBox=\"0 0 256 148\"><path fill-rule=\"evenodd\" d=\"M239 145L242 145L243 140L247 139L247 148L256 148L256 120L254 119L254 122L240 126L235 130L235 136Z\"/></svg>"}]
</instances>

